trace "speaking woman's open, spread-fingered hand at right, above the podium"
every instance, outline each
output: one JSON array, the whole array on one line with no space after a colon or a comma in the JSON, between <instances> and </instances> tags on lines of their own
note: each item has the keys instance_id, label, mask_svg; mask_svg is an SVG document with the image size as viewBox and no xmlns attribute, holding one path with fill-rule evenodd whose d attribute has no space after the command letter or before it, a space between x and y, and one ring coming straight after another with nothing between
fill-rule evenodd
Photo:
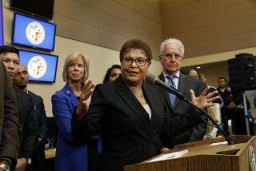
<instances>
[{"instance_id":1,"label":"speaking woman's open, spread-fingered hand at right, above the podium","mask_svg":"<svg viewBox=\"0 0 256 171\"><path fill-rule=\"evenodd\" d=\"M205 109L206 107L213 106L214 104L212 103L212 101L219 98L218 96L214 97L214 95L218 93L217 90L207 94L208 90L209 88L206 87L206 89L202 91L200 96L195 97L193 89L190 89L191 101L193 102L194 105L198 106L198 108L200 109Z\"/></svg>"}]
</instances>

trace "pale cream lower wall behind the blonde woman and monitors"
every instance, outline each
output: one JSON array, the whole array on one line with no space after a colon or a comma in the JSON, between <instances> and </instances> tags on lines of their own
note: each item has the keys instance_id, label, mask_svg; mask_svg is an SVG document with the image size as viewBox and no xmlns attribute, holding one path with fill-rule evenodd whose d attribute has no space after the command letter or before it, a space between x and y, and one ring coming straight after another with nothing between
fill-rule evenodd
<instances>
[{"instance_id":1,"label":"pale cream lower wall behind the blonde woman and monitors","mask_svg":"<svg viewBox=\"0 0 256 171\"><path fill-rule=\"evenodd\" d=\"M6 1L7 0L3 1L3 5ZM9 9L3 8L3 22L4 39L6 44L11 38L11 28L13 22L13 12ZM38 93L38 95L42 96L44 99L46 105L46 114L48 117L52 116L50 97L64 85L64 82L62 81L62 66L65 58L68 54L75 51L86 54L90 59L90 79L92 79L96 84L102 82L103 76L108 67L119 63L117 50L110 50L104 47L94 46L84 42L71 40L69 38L56 36L55 50L52 53L59 56L56 82L54 84L30 83L29 85L30 90L32 90L34 93ZM150 66L150 72L153 72L154 74L159 74L161 72L161 66L159 62L152 62L152 65Z\"/></svg>"}]
</instances>

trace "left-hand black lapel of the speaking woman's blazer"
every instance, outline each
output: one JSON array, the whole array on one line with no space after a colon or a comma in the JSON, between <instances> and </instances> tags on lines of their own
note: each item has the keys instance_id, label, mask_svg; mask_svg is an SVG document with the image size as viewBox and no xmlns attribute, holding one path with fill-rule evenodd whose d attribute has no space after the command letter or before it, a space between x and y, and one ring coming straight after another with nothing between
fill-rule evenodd
<instances>
[{"instance_id":1,"label":"left-hand black lapel of the speaking woman's blazer","mask_svg":"<svg viewBox=\"0 0 256 171\"><path fill-rule=\"evenodd\" d=\"M154 140L152 130L150 128L150 118L148 117L148 113L146 113L146 110L142 107L137 98L134 97L134 94L130 91L122 78L118 78L118 80L114 82L114 84L115 89L120 97L122 97L122 100L125 101L126 105L128 105L130 109L134 111L139 120L142 121L142 124L145 126L146 131L150 134L150 137ZM150 93L146 93L146 96L148 96L149 94Z\"/></svg>"}]
</instances>

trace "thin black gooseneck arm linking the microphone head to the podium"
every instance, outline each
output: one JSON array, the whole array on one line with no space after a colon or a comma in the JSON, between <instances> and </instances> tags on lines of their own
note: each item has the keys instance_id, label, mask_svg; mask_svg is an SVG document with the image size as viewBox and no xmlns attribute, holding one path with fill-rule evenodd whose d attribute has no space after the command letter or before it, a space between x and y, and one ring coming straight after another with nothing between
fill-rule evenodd
<instances>
[{"instance_id":1,"label":"thin black gooseneck arm linking the microphone head to the podium","mask_svg":"<svg viewBox=\"0 0 256 171\"><path fill-rule=\"evenodd\" d=\"M166 87L165 87L166 88ZM171 87L172 89L174 89L174 87ZM205 110L198 108L198 106L194 105L192 103L192 101L190 101L186 96L184 96L181 92L178 91L178 89L174 89L174 92L170 91L170 89L166 90L170 93L174 93L175 96L179 97L182 101L186 101L186 103L190 104L194 109L197 109L199 112L203 113L208 119L210 119L210 121L214 124L214 126L216 126L216 128L219 130L219 132L222 133L222 135L225 137L228 145L234 145L234 141L230 138L230 136L228 134L226 134L220 127L219 125L216 123L216 121L214 121L214 119L212 117L210 117L208 115L208 113L206 113Z\"/></svg>"}]
</instances>

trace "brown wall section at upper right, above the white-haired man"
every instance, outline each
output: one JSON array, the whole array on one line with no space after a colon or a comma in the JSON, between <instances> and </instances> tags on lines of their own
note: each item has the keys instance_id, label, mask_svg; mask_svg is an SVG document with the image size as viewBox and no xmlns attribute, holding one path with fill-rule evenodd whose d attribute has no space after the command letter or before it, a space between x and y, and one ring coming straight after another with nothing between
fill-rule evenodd
<instances>
[{"instance_id":1,"label":"brown wall section at upper right, above the white-haired man","mask_svg":"<svg viewBox=\"0 0 256 171\"><path fill-rule=\"evenodd\" d=\"M160 0L160 9L162 38L181 39L186 58L256 46L256 1Z\"/></svg>"}]
</instances>

